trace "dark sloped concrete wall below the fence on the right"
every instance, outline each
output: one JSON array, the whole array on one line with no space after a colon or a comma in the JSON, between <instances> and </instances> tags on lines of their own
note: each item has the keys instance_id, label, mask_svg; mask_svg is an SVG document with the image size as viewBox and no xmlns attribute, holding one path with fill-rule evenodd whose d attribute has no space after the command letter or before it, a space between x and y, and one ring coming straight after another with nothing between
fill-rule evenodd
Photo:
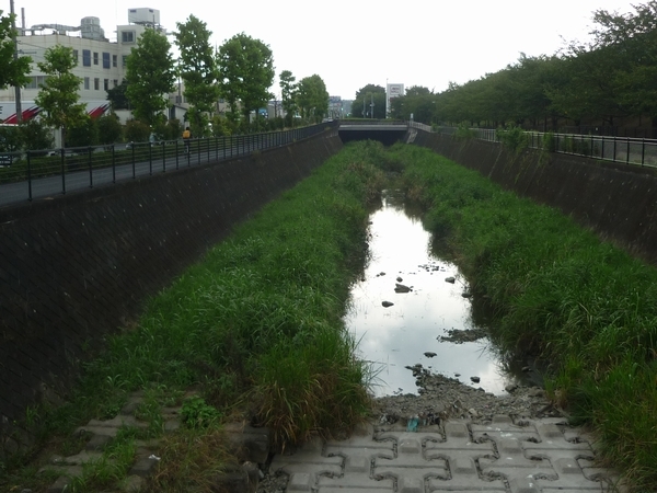
<instances>
[{"instance_id":1,"label":"dark sloped concrete wall below the fence on the right","mask_svg":"<svg viewBox=\"0 0 657 493\"><path fill-rule=\"evenodd\" d=\"M560 208L602 239L657 265L657 177L653 170L418 131L415 144L519 195Z\"/></svg>"}]
</instances>

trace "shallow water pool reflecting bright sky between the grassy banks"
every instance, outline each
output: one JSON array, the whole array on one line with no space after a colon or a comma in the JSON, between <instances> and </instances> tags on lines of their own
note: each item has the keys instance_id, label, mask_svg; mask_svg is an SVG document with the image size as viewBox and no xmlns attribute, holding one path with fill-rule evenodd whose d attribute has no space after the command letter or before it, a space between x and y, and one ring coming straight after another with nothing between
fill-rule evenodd
<instances>
[{"instance_id":1,"label":"shallow water pool reflecting bright sky between the grassy banks","mask_svg":"<svg viewBox=\"0 0 657 493\"><path fill-rule=\"evenodd\" d=\"M360 341L359 356L374 362L379 370L376 393L416 393L415 379L405 368L416 363L434 372L459 376L464 383L488 392L503 393L514 378L504 374L487 340L463 344L437 340L450 329L476 325L470 300L461 296L468 290L465 280L456 265L431 254L431 238L418 215L406 214L399 194L385 193L370 220L370 260L364 279L351 289L346 323ZM447 277L456 282L447 283ZM396 283L413 290L395 293ZM383 301L393 305L384 308ZM471 382L474 376L480 377L479 383Z\"/></svg>"}]
</instances>

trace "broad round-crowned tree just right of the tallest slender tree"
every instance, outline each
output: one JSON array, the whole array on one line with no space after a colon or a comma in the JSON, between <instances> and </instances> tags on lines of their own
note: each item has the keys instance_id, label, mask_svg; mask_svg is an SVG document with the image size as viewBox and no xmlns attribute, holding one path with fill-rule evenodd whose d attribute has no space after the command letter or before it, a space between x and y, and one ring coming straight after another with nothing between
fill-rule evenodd
<instances>
[{"instance_id":1,"label":"broad round-crowned tree just right of the tallest slender tree","mask_svg":"<svg viewBox=\"0 0 657 493\"><path fill-rule=\"evenodd\" d=\"M229 117L233 121L241 113L249 122L252 111L263 107L274 95L269 88L274 81L274 57L272 49L260 39L244 33L237 34L219 48L219 85L230 106Z\"/></svg>"}]
</instances>

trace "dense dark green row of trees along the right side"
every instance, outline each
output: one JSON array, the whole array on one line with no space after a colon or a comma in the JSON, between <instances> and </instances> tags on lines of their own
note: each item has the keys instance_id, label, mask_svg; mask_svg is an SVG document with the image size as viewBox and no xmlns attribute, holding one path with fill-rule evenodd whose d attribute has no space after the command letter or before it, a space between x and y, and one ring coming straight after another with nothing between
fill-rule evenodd
<instances>
[{"instance_id":1,"label":"dense dark green row of trees along the right side","mask_svg":"<svg viewBox=\"0 0 657 493\"><path fill-rule=\"evenodd\" d=\"M572 42L552 56L521 55L505 69L440 93L411 88L391 101L395 117L424 123L498 126L516 123L657 126L657 1L634 12L593 12L588 43ZM355 111L357 111L355 108Z\"/></svg>"}]
</instances>

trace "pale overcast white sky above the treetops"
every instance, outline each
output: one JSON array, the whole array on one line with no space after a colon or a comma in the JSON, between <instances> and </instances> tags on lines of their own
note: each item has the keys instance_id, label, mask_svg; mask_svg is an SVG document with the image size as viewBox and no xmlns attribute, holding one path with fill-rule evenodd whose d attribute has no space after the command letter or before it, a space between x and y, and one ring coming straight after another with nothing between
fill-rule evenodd
<instances>
[{"instance_id":1,"label":"pale overcast white sky above the treetops","mask_svg":"<svg viewBox=\"0 0 657 493\"><path fill-rule=\"evenodd\" d=\"M10 0L0 0L10 11ZM245 33L268 45L278 76L290 70L300 80L319 74L331 95L345 100L367 85L403 83L445 91L450 82L476 80L514 64L520 54L553 55L566 42L588 39L592 13L634 12L636 0L14 0L18 25L79 25L96 16L105 36L127 24L128 9L152 8L169 32L195 15L220 46ZM173 36L170 38L173 43ZM277 79L272 92L280 96Z\"/></svg>"}]
</instances>

